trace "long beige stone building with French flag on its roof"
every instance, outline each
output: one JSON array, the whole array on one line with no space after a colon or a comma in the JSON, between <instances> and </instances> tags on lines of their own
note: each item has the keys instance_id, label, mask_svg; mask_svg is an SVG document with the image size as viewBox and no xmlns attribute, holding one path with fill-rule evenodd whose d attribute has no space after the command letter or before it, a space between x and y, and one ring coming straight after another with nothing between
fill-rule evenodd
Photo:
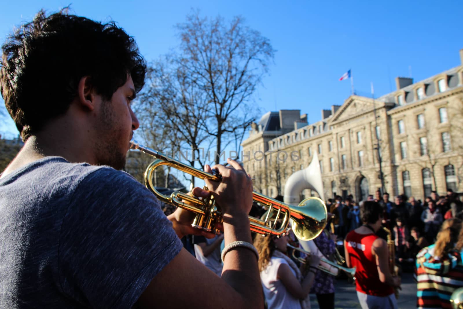
<instances>
[{"instance_id":1,"label":"long beige stone building with French flag on its roof","mask_svg":"<svg viewBox=\"0 0 463 309\"><path fill-rule=\"evenodd\" d=\"M463 49L461 64L423 81L396 78L397 90L373 100L351 95L307 123L300 110L264 114L244 140L254 188L274 197L316 151L325 197L357 201L382 188L424 199L432 190L463 191ZM316 195L304 190L301 195Z\"/></svg>"}]
</instances>

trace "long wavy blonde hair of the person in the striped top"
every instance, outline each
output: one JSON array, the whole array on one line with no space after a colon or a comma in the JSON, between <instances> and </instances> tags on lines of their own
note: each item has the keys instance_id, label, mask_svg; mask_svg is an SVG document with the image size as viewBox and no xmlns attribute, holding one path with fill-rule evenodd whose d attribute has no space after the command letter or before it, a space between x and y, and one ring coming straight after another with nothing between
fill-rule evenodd
<instances>
[{"instance_id":1,"label":"long wavy blonde hair of the person in the striped top","mask_svg":"<svg viewBox=\"0 0 463 309\"><path fill-rule=\"evenodd\" d=\"M442 227L437 234L434 256L438 256L439 258L444 257L445 254L449 253L449 251L455 247L454 244L457 241L463 244L463 239L458 236L462 234L460 232L461 227L462 221L458 218L447 219L442 223Z\"/></svg>"}]
</instances>

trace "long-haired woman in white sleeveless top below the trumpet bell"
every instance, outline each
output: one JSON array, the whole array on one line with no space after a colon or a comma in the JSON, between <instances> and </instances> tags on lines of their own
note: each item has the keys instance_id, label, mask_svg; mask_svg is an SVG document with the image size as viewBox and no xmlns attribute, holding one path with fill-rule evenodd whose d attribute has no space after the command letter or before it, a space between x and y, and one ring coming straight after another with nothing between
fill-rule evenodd
<instances>
[{"instance_id":1,"label":"long-haired woman in white sleeveless top below the trumpet bell","mask_svg":"<svg viewBox=\"0 0 463 309\"><path fill-rule=\"evenodd\" d=\"M269 309L309 309L309 291L320 259L308 256L300 269L287 255L288 233L282 236L256 235L259 270ZM306 266L307 265L307 266ZM307 275L301 270L308 269ZM304 271L302 271L304 272Z\"/></svg>"}]
</instances>

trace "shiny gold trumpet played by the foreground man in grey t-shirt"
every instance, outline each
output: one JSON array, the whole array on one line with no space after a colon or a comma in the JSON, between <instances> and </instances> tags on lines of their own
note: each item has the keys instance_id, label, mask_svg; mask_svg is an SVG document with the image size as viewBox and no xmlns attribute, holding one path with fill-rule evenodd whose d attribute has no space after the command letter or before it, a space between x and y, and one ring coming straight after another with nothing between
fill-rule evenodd
<instances>
[{"instance_id":1,"label":"shiny gold trumpet played by the foreground man in grey t-shirt","mask_svg":"<svg viewBox=\"0 0 463 309\"><path fill-rule=\"evenodd\" d=\"M200 179L220 182L222 176L217 171L213 170L212 173L206 173L205 171L165 156L159 151L139 145L133 139L130 141L130 149L138 149L157 158L157 160L153 161L146 168L144 179L146 187L150 189L159 200L194 212L196 216L192 224L193 227L204 229L208 232L219 233L219 229L215 226L217 223L223 222L223 217L220 206L215 203L213 195L206 199L199 199L195 196L175 191L170 196L167 196L157 191L153 184L154 172L156 168L161 165L168 165ZM255 202L269 208L267 216L263 220L251 216L249 217L250 229L253 232L281 235L287 231L289 219L292 219L294 234L301 240L311 240L317 237L325 228L327 219L326 206L325 203L317 197L309 197L300 202L298 206L292 206L255 191L252 195ZM271 221L270 214L273 213L276 213L276 216L275 219Z\"/></svg>"}]
</instances>

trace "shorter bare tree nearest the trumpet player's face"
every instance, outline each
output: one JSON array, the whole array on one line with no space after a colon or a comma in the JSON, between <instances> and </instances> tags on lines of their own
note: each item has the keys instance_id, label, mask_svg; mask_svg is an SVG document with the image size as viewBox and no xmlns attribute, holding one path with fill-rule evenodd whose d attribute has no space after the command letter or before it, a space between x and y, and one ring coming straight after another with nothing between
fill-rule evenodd
<instances>
[{"instance_id":1,"label":"shorter bare tree nearest the trumpet player's face","mask_svg":"<svg viewBox=\"0 0 463 309\"><path fill-rule=\"evenodd\" d=\"M138 103L138 109L147 115L143 122L153 123L152 117L156 117L156 125L162 127L160 135L172 157L186 158L191 166L195 162L202 166L207 152L203 148L210 139L206 131L208 102L205 93L183 71L175 54L153 63L147 81L148 88ZM194 177L189 176L189 181L194 184Z\"/></svg>"}]
</instances>

